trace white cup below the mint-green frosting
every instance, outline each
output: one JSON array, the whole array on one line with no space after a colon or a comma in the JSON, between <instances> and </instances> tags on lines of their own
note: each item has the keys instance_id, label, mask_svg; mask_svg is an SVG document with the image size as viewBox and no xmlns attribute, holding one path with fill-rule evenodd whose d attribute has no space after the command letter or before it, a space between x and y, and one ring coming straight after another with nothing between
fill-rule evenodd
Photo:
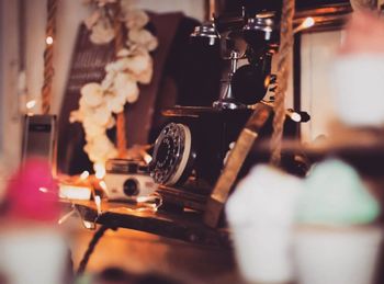
<instances>
[{"instance_id":1,"label":"white cup below the mint-green frosting","mask_svg":"<svg viewBox=\"0 0 384 284\"><path fill-rule=\"evenodd\" d=\"M294 262L300 284L371 284L383 230L303 226L294 236Z\"/></svg>"}]
</instances>

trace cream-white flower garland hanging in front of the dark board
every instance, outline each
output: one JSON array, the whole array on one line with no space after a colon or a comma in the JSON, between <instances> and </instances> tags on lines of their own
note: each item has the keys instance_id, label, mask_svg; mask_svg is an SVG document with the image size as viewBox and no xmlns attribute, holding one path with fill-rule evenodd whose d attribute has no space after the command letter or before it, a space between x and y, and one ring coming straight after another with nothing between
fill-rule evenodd
<instances>
[{"instance_id":1,"label":"cream-white flower garland hanging in front of the dark board","mask_svg":"<svg viewBox=\"0 0 384 284\"><path fill-rule=\"evenodd\" d=\"M81 90L79 109L70 114L70 123L80 122L86 134L83 147L94 168L108 159L117 157L117 149L106 136L106 129L115 126L114 114L124 111L126 102L138 99L138 83L149 83L153 77L150 52L157 38L147 30L148 15L142 10L131 9L126 0L87 0L93 13L84 21L91 31L90 41L108 44L115 37L114 16L127 27L124 47L116 54L116 60L105 66L106 75L101 83L90 82ZM120 4L120 14L113 14L113 5Z\"/></svg>"}]
</instances>

